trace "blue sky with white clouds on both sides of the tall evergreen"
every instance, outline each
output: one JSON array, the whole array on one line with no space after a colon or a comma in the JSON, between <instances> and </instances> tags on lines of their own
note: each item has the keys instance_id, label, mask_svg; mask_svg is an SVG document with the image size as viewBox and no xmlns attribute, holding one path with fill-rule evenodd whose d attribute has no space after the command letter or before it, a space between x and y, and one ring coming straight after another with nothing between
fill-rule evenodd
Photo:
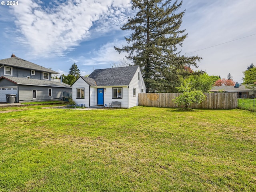
<instances>
[{"instance_id":1,"label":"blue sky with white clouds on both sides of the tall evergreen","mask_svg":"<svg viewBox=\"0 0 256 192\"><path fill-rule=\"evenodd\" d=\"M130 0L1 1L0 59L14 53L60 74L75 62L85 75L125 58L113 46L126 44L120 26L134 15ZM199 69L210 75L230 73L242 83L242 72L256 65L256 1L184 0L182 10L182 54L202 57Z\"/></svg>"}]
</instances>

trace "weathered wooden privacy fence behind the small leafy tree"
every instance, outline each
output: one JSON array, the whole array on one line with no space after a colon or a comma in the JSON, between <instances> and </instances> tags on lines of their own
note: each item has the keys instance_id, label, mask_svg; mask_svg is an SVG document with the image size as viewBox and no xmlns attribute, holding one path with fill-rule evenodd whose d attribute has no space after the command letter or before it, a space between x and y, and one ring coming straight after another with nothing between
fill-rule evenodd
<instances>
[{"instance_id":1,"label":"weathered wooden privacy fence behind the small leafy tree","mask_svg":"<svg viewBox=\"0 0 256 192\"><path fill-rule=\"evenodd\" d=\"M182 93L140 93L140 106L178 108L172 100ZM234 109L237 108L237 93L204 93L206 100L201 104L192 104L190 108ZM183 106L181 106L183 107Z\"/></svg>"}]
</instances>

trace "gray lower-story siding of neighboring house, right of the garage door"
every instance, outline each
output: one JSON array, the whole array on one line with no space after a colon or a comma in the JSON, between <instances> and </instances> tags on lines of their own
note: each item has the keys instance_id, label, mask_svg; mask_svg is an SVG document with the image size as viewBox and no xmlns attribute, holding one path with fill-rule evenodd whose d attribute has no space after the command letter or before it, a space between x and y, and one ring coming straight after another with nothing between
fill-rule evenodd
<instances>
[{"instance_id":1,"label":"gray lower-story siding of neighboring house, right of the garage door","mask_svg":"<svg viewBox=\"0 0 256 192\"><path fill-rule=\"evenodd\" d=\"M52 89L52 96L48 96L49 88ZM33 99L33 90L36 90L36 98ZM19 102L53 101L62 100L62 91L70 91L68 88L44 87L44 86L18 86Z\"/></svg>"}]
</instances>

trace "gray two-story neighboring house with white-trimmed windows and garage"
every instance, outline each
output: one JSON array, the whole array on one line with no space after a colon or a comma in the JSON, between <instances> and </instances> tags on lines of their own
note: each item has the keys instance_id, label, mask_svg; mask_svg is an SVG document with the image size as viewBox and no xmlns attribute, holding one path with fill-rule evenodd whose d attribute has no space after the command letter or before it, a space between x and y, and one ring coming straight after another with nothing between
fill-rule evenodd
<instances>
[{"instance_id":1,"label":"gray two-story neighboring house with white-trimmed windows and garage","mask_svg":"<svg viewBox=\"0 0 256 192\"><path fill-rule=\"evenodd\" d=\"M16 102L63 100L72 88L56 79L58 72L16 57L0 60L0 102L6 94L15 94Z\"/></svg>"}]
</instances>

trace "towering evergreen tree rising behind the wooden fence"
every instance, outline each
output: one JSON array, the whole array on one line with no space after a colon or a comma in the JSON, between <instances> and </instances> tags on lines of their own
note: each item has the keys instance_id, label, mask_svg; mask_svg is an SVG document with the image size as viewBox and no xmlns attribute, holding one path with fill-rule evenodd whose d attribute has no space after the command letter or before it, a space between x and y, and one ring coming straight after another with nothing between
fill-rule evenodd
<instances>
[{"instance_id":1,"label":"towering evergreen tree rising behind the wooden fence","mask_svg":"<svg viewBox=\"0 0 256 192\"><path fill-rule=\"evenodd\" d=\"M129 45L114 48L118 53L127 52L126 58L140 66L146 92L174 92L183 82L180 78L191 74L184 67L197 67L196 61L201 59L178 51L187 37L185 30L180 30L185 13L178 12L181 5L178 0L132 0L132 9L138 12L121 27L132 31L125 37Z\"/></svg>"}]
</instances>

